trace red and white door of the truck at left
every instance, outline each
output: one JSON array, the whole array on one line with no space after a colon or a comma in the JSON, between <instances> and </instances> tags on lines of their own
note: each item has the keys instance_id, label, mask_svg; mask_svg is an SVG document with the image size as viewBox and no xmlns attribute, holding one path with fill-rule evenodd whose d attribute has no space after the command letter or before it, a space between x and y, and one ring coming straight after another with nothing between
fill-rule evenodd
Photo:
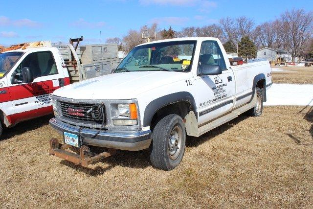
<instances>
[{"instance_id":1,"label":"red and white door of the truck at left","mask_svg":"<svg viewBox=\"0 0 313 209\"><path fill-rule=\"evenodd\" d=\"M32 83L16 82L22 81L21 72L24 67L30 68L34 77ZM63 71L58 72L51 51L38 51L26 55L12 73L11 81L8 81L15 111L12 123L52 113L51 94L60 87L63 77Z\"/></svg>"}]
</instances>

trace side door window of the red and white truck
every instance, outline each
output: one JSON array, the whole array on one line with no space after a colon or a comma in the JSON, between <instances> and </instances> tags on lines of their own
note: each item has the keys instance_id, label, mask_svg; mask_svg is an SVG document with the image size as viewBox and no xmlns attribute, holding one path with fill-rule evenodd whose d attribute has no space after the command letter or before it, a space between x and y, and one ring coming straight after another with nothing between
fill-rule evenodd
<instances>
[{"instance_id":1,"label":"side door window of the red and white truck","mask_svg":"<svg viewBox=\"0 0 313 209\"><path fill-rule=\"evenodd\" d=\"M51 51L40 51L28 54L21 65L16 69L17 73L21 73L22 69L25 67L30 68L34 78L58 73Z\"/></svg>"}]
</instances>

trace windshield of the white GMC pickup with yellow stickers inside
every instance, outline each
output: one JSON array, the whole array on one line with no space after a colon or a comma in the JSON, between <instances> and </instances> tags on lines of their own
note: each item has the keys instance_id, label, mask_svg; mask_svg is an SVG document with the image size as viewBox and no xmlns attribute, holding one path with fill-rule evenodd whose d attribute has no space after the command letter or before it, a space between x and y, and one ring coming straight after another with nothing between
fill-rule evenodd
<instances>
[{"instance_id":1,"label":"windshield of the white GMC pickup with yellow stickers inside","mask_svg":"<svg viewBox=\"0 0 313 209\"><path fill-rule=\"evenodd\" d=\"M114 72L190 71L196 41L162 42L136 46Z\"/></svg>"}]
</instances>

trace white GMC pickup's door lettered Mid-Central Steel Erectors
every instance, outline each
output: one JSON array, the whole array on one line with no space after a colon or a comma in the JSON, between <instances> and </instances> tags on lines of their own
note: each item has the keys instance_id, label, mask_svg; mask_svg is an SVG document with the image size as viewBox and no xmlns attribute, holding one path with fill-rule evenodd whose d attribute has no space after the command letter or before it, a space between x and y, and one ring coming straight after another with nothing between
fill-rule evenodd
<instances>
[{"instance_id":1,"label":"white GMC pickup's door lettered Mid-Central Steel Erectors","mask_svg":"<svg viewBox=\"0 0 313 209\"><path fill-rule=\"evenodd\" d=\"M199 75L196 78L198 92L198 124L199 126L228 113L232 109L235 94L233 71L227 69L224 56L216 41L201 43L200 65L218 65L222 74Z\"/></svg>"}]
</instances>

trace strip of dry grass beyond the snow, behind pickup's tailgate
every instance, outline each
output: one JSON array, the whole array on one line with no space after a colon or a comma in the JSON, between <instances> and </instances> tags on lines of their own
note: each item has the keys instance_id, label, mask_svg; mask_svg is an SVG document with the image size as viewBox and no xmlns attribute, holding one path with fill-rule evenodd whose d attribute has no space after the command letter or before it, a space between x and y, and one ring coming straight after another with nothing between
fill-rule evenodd
<instances>
[{"instance_id":1,"label":"strip of dry grass beyond the snow, behind pickup's tailgate","mask_svg":"<svg viewBox=\"0 0 313 209\"><path fill-rule=\"evenodd\" d=\"M285 72L272 72L273 83L313 84L313 67L272 67Z\"/></svg>"}]
</instances>

